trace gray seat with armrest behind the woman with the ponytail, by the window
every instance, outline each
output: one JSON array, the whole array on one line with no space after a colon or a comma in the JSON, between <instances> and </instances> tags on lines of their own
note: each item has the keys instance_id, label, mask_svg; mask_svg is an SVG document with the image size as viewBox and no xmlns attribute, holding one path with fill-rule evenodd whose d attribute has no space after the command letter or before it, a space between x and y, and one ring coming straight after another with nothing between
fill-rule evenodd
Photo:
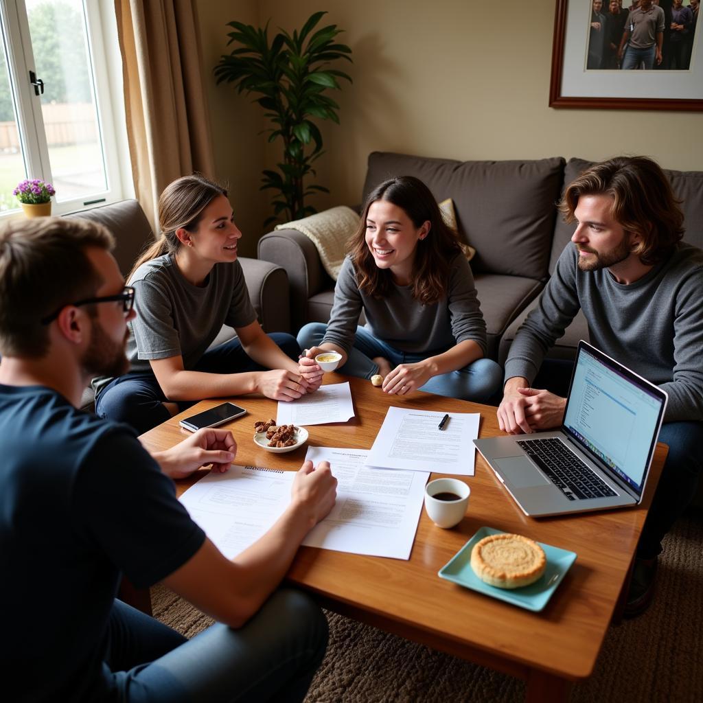
<instances>
[{"instance_id":1,"label":"gray seat with armrest behind the woman with the ponytail, by the window","mask_svg":"<svg viewBox=\"0 0 703 703\"><path fill-rule=\"evenodd\" d=\"M82 217L105 225L115 236L115 258L125 276L143 247L153 239L151 226L136 200L122 200L111 205L73 212L65 217ZM240 257L247 289L259 322L266 332L289 332L288 275L276 264ZM213 344L233 337L234 330L223 328ZM93 404L93 392L86 389L82 407Z\"/></svg>"}]
</instances>

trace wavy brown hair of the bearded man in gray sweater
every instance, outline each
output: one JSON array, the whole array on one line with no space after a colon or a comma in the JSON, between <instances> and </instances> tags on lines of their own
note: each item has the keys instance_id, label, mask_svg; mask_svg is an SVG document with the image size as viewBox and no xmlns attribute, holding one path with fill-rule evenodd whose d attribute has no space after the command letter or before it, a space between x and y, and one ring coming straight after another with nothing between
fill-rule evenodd
<instances>
[{"instance_id":1,"label":"wavy brown hair of the bearded man in gray sweater","mask_svg":"<svg viewBox=\"0 0 703 703\"><path fill-rule=\"evenodd\" d=\"M559 204L566 222L574 221L581 195L612 198L612 216L626 232L640 236L632 251L647 266L666 259L683 238L681 201L659 165L646 156L619 156L586 169Z\"/></svg>"}]
</instances>

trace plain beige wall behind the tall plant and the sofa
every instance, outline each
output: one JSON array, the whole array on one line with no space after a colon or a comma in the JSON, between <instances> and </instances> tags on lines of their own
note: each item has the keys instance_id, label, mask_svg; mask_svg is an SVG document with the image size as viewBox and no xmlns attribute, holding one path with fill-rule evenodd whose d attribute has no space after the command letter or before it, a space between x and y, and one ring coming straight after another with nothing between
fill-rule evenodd
<instances>
[{"instance_id":1,"label":"plain beige wall behind the tall plant and the sofa","mask_svg":"<svg viewBox=\"0 0 703 703\"><path fill-rule=\"evenodd\" d=\"M237 18L263 25L271 18L271 27L292 31L320 8L314 0L199 0L199 7L206 5L213 7L202 32L213 42L225 37L221 22ZM548 107L553 1L328 0L324 6L329 13L323 22L342 27L340 41L352 47L348 72L354 84L345 82L333 96L341 105L341 126L321 126L327 153L318 162L318 182L332 193L318 197L318 208L359 201L373 150L460 160L553 155L601 160L644 153L664 167L703 169L701 113ZM219 48L212 51L219 54ZM275 164L278 154L255 134L263 126L257 107L236 102L226 89L213 90L209 100L222 148L218 165L229 168L221 174L234 185L238 172L236 183L247 193L242 212L247 222L260 224L268 214L267 196L248 196L252 184L258 187L264 163ZM236 114L223 119L235 106ZM262 120L261 110L258 114ZM246 176L230 168L231 162L245 164Z\"/></svg>"}]
</instances>

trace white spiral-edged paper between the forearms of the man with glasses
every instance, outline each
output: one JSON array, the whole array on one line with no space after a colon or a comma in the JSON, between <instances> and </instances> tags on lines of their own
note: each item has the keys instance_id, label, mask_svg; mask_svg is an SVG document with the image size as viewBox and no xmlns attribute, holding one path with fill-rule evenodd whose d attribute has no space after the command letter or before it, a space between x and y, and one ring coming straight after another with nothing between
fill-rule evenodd
<instances>
[{"instance_id":1,"label":"white spiral-edged paper between the forearms of the man with glasses","mask_svg":"<svg viewBox=\"0 0 703 703\"><path fill-rule=\"evenodd\" d=\"M269 530L290 503L295 471L233 465L210 472L181 496L181 503L228 559Z\"/></svg>"}]
</instances>

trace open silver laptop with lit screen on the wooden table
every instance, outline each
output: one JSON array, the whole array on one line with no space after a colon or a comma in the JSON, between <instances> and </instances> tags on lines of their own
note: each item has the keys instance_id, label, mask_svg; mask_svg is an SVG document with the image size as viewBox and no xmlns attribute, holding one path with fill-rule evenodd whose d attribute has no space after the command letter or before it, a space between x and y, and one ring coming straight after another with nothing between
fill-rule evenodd
<instances>
[{"instance_id":1,"label":"open silver laptop with lit screen on the wooden table","mask_svg":"<svg viewBox=\"0 0 703 703\"><path fill-rule=\"evenodd\" d=\"M579 342L559 430L475 439L525 515L560 515L642 500L666 392Z\"/></svg>"}]
</instances>

